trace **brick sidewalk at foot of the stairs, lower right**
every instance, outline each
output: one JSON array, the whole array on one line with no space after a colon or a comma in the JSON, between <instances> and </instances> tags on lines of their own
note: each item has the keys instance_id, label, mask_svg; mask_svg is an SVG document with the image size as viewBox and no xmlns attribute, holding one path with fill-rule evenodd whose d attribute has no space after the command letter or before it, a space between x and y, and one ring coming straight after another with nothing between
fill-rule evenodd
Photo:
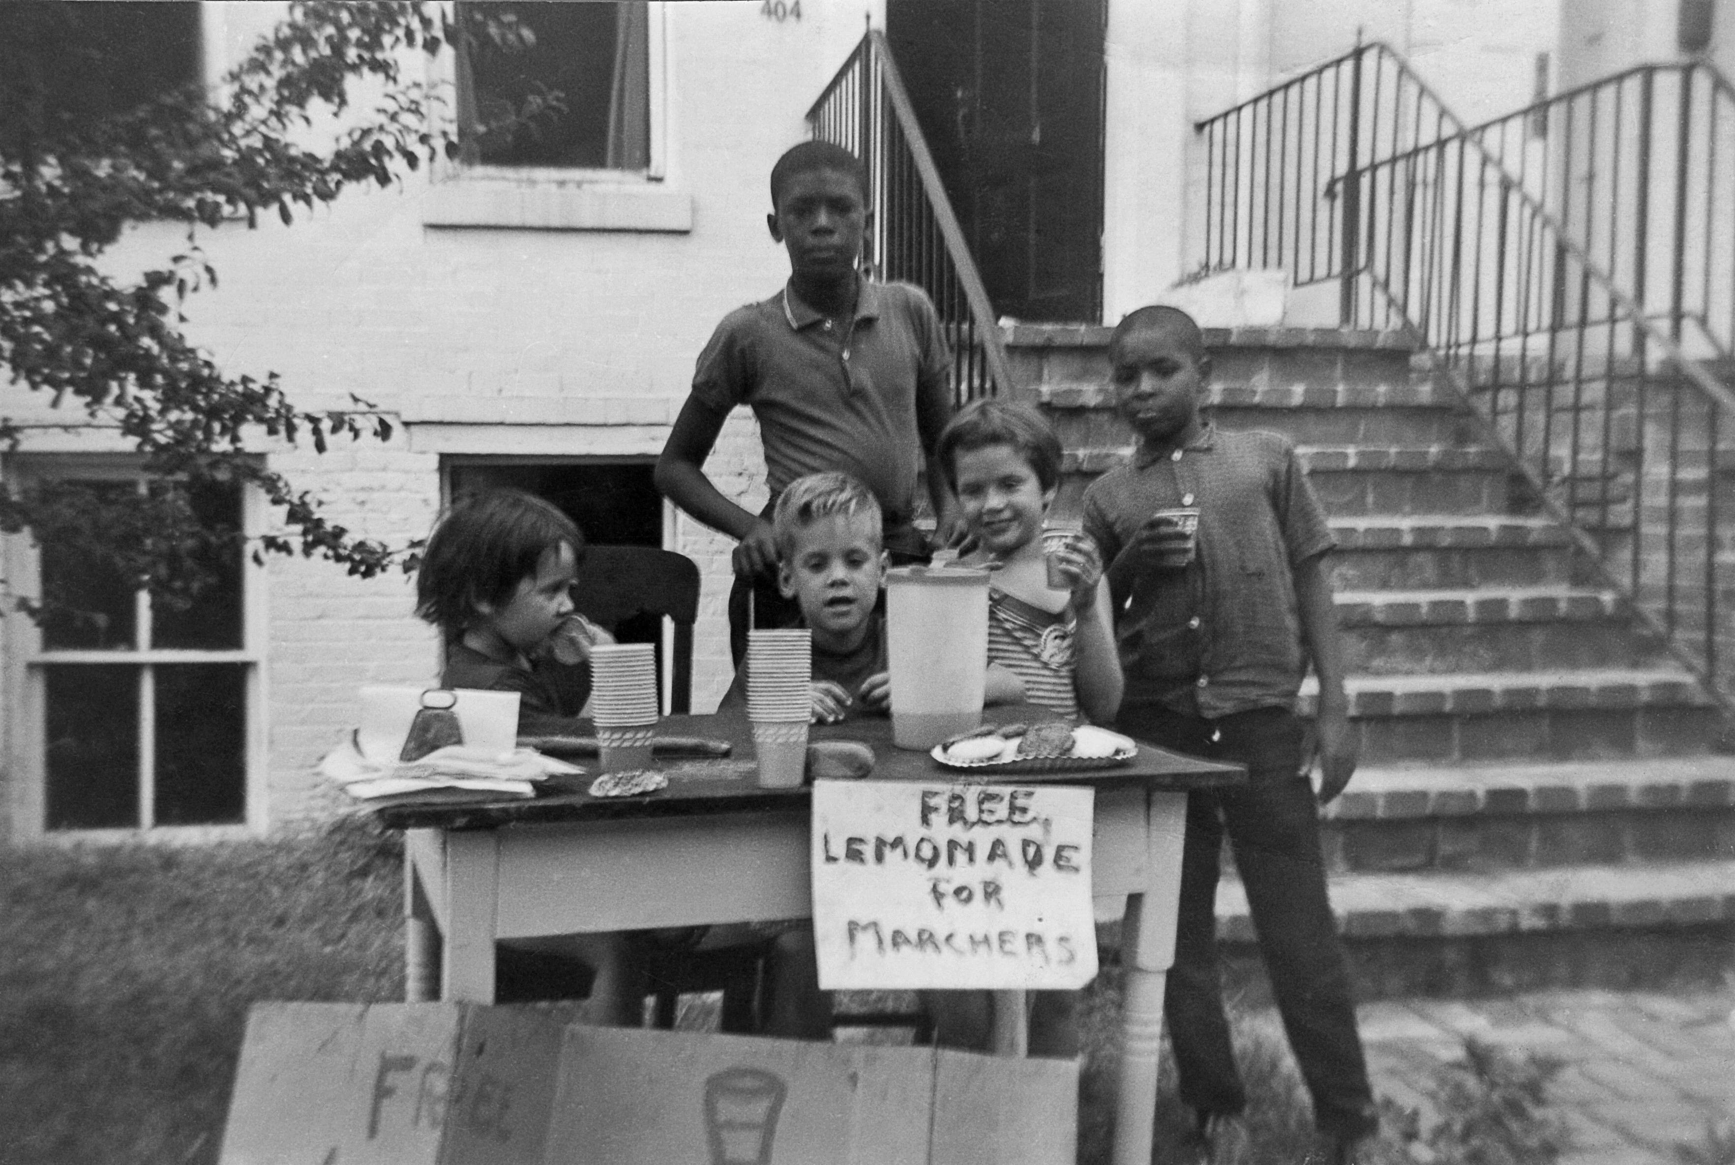
<instances>
[{"instance_id":1,"label":"brick sidewalk at foot of the stairs, lower right","mask_svg":"<svg viewBox=\"0 0 1735 1165\"><path fill-rule=\"evenodd\" d=\"M1574 1144L1560 1165L1679 1165L1679 1141L1735 1129L1735 991L1539 991L1360 1009L1374 1092L1426 1111L1464 1037L1565 1061L1549 1083Z\"/></svg>"}]
</instances>

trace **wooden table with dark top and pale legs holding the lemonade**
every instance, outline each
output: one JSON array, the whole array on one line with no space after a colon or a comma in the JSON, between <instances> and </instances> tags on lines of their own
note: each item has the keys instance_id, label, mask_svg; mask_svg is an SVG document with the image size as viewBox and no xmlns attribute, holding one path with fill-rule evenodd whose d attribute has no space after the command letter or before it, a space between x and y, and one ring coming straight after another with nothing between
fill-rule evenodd
<instances>
[{"instance_id":1,"label":"wooden table with dark top and pale legs holding the lemonade","mask_svg":"<svg viewBox=\"0 0 1735 1165\"><path fill-rule=\"evenodd\" d=\"M989 710L998 722L1041 717L1031 708ZM736 717L665 717L659 731L729 740L736 757L753 757L748 724ZM878 759L871 780L954 776L923 752L894 748L883 719L815 727L812 738L871 745ZM1114 1160L1149 1165L1187 790L1232 785L1246 773L1142 745L1119 769L1005 780L1097 790L1091 889L1098 901L1117 899L1126 908ZM682 778L659 793L626 800L573 793L482 806L392 806L376 816L406 830L406 993L413 1002L435 997L435 969L439 998L493 1002L498 939L812 913L805 788ZM996 1026L1003 1014L996 1010Z\"/></svg>"}]
</instances>

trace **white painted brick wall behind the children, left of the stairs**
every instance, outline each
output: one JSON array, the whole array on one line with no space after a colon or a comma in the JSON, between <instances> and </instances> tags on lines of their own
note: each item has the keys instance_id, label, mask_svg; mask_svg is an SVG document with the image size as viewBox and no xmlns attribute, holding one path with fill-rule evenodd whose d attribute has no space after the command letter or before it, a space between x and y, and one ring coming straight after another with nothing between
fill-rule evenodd
<instances>
[{"instance_id":1,"label":"white painted brick wall behind the children, left of the stairs","mask_svg":"<svg viewBox=\"0 0 1735 1165\"><path fill-rule=\"evenodd\" d=\"M807 137L803 115L861 38L864 12L883 26L880 0L814 0L802 21L782 24L756 3L666 5L663 188L692 196L687 234L429 229L429 177L415 175L401 189L357 189L302 212L290 227L265 215L257 231L201 231L220 290L189 304L189 333L231 373L278 372L302 406L345 408L356 394L409 422L389 446L271 457L324 497L333 519L394 545L434 521L439 451L654 453L717 321L788 274L765 231L767 175ZM259 23L250 9L219 16L208 38L219 54ZM137 278L184 247L180 229L151 224L104 262ZM0 387L0 415L40 411ZM725 495L763 505L751 417L725 425L708 469ZM685 516L673 530L673 549L703 569L694 707L706 710L730 675L732 542ZM312 764L354 724L356 688L429 682L437 655L401 575L364 582L328 563L276 559L267 592L278 825L324 811Z\"/></svg>"}]
</instances>

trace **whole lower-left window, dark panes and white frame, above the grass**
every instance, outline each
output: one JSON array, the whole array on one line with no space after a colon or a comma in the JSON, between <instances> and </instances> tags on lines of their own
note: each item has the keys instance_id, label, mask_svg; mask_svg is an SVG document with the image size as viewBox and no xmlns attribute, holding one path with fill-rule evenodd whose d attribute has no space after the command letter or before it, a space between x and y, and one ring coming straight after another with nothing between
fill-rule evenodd
<instances>
[{"instance_id":1,"label":"whole lower-left window, dark panes and white frame, above the grass","mask_svg":"<svg viewBox=\"0 0 1735 1165\"><path fill-rule=\"evenodd\" d=\"M151 488L99 460L21 476L90 493ZM246 535L257 523L257 500L238 484L175 488L208 530ZM234 538L187 557L201 585L153 594L52 533L40 545L12 538L9 582L43 604L40 622L7 618L9 686L23 694L9 701L9 740L12 773L26 785L24 832L250 821L262 741L260 571Z\"/></svg>"}]
</instances>

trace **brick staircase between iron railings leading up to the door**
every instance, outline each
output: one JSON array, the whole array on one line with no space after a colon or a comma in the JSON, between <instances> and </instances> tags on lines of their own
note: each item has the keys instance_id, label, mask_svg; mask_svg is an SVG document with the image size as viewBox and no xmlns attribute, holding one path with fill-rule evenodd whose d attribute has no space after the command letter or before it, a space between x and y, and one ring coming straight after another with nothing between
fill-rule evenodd
<instances>
[{"instance_id":1,"label":"brick staircase between iron railings leading up to the door","mask_svg":"<svg viewBox=\"0 0 1735 1165\"><path fill-rule=\"evenodd\" d=\"M1131 450L1107 328L1006 330L1062 432L1057 502ZM1716 708L1397 333L1208 333L1225 429L1300 448L1331 514L1362 769L1326 809L1364 997L1716 981L1735 965L1735 757ZM1306 693L1305 693L1306 696ZM1234 880L1221 932L1251 965ZM1234 962L1234 960L1232 960Z\"/></svg>"}]
</instances>

